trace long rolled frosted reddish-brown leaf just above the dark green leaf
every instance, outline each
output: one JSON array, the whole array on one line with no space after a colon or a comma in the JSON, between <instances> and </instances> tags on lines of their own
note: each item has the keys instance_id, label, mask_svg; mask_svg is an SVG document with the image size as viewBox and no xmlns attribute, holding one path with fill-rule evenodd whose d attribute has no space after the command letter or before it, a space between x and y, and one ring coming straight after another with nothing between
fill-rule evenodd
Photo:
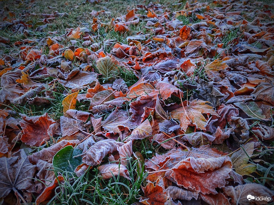
<instances>
[{"instance_id":1,"label":"long rolled frosted reddish-brown leaf just above the dark green leaf","mask_svg":"<svg viewBox=\"0 0 274 205\"><path fill-rule=\"evenodd\" d=\"M79 140L62 140L54 145L51 145L48 148L43 148L42 150L39 150L39 152L28 155L28 160L31 163L37 163L40 159L43 161L51 161L53 156L65 146L72 145L74 147L79 143Z\"/></svg>"}]
</instances>

